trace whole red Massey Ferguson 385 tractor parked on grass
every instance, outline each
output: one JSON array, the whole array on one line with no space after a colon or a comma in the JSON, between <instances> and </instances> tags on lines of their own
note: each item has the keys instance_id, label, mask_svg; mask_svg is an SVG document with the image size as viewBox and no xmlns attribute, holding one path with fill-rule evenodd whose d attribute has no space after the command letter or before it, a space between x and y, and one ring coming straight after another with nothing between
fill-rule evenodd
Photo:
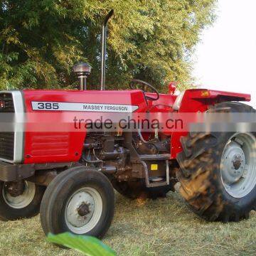
<instances>
[{"instance_id":1,"label":"whole red Massey Ferguson 385 tractor parked on grass","mask_svg":"<svg viewBox=\"0 0 256 256\"><path fill-rule=\"evenodd\" d=\"M171 86L168 94L160 94L140 80L132 80L131 90L105 90L111 15L102 26L102 90L86 90L90 65L78 63L80 90L0 92L0 112L9 113L15 127L0 132L1 220L40 211L46 234L69 231L102 238L114 215L114 189L127 198L157 198L178 182L181 196L202 218L248 218L256 207L253 132L34 129L43 123L65 126L67 114L255 113L239 102L250 101L241 93L196 89L177 96Z\"/></svg>"}]
</instances>

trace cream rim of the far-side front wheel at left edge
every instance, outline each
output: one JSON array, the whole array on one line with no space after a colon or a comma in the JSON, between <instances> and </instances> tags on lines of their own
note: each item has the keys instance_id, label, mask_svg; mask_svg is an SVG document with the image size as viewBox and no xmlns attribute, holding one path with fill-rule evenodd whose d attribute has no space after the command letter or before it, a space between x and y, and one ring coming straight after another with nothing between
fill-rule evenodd
<instances>
[{"instance_id":1,"label":"cream rim of the far-side front wheel at left edge","mask_svg":"<svg viewBox=\"0 0 256 256\"><path fill-rule=\"evenodd\" d=\"M25 181L23 193L20 196L11 196L7 191L6 183L4 183L2 194L4 201L11 208L25 208L33 201L33 198L36 194L36 185L35 183Z\"/></svg>"}]
</instances>

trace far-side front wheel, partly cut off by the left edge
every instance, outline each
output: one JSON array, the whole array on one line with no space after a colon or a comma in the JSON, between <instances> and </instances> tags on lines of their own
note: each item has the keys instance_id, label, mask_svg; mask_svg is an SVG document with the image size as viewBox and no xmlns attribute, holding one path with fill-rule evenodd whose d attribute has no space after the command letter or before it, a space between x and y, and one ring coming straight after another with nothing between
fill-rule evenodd
<instances>
[{"instance_id":1,"label":"far-side front wheel, partly cut off by the left edge","mask_svg":"<svg viewBox=\"0 0 256 256\"><path fill-rule=\"evenodd\" d=\"M0 218L16 220L39 213L45 188L29 181L0 183Z\"/></svg>"}]
</instances>

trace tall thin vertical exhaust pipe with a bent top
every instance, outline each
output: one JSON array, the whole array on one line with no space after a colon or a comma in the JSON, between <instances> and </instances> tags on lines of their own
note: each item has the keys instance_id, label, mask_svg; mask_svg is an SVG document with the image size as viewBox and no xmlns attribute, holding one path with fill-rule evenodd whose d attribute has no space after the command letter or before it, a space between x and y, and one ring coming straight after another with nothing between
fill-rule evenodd
<instances>
[{"instance_id":1,"label":"tall thin vertical exhaust pipe with a bent top","mask_svg":"<svg viewBox=\"0 0 256 256\"><path fill-rule=\"evenodd\" d=\"M101 79L100 79L100 90L105 90L105 79L106 79L106 52L107 52L107 21L114 14L112 9L105 17L102 24L102 59L101 59Z\"/></svg>"}]
</instances>

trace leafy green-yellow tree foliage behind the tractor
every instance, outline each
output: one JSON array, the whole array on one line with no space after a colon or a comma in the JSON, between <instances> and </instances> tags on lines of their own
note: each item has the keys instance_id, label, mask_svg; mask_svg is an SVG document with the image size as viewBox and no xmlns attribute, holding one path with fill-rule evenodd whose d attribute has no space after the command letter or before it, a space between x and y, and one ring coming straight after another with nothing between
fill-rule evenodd
<instances>
[{"instance_id":1,"label":"leafy green-yellow tree foliage behind the tractor","mask_svg":"<svg viewBox=\"0 0 256 256\"><path fill-rule=\"evenodd\" d=\"M100 87L100 26L110 9L107 87L191 82L190 57L215 0L2 0L0 88L74 87L80 60L92 65L89 87Z\"/></svg>"}]
</instances>

